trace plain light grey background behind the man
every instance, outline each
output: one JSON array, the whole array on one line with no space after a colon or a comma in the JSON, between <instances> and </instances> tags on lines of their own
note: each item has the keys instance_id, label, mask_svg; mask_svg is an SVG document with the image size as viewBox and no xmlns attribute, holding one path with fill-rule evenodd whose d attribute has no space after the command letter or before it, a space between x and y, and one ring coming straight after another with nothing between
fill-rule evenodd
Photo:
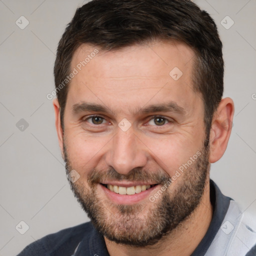
<instances>
[{"instance_id":1,"label":"plain light grey background behind the man","mask_svg":"<svg viewBox=\"0 0 256 256\"><path fill-rule=\"evenodd\" d=\"M52 102L46 98L54 88L57 43L83 2L0 0L0 255L16 255L45 234L88 220L69 189ZM224 96L235 103L228 147L212 164L211 177L243 211L255 215L256 1L195 2L218 26L225 60ZM29 21L24 29L15 24L21 15ZM226 15L234 21L229 29L220 23L231 24L223 19ZM17 230L24 231L24 224L15 228L21 220L29 226L23 235Z\"/></svg>"}]
</instances>

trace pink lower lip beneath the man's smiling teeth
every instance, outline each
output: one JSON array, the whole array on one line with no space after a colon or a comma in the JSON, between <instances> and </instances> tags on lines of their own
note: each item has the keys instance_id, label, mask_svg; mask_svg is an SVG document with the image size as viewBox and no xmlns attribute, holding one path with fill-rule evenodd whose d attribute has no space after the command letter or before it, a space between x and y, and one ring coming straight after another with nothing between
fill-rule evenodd
<instances>
[{"instance_id":1,"label":"pink lower lip beneath the man's smiling teeth","mask_svg":"<svg viewBox=\"0 0 256 256\"><path fill-rule=\"evenodd\" d=\"M98 186L100 186L100 188L112 202L118 204L134 204L145 198L148 198L149 194L153 190L157 189L159 185L152 186L144 191L141 191L140 193L135 194L117 194L101 184L98 184Z\"/></svg>"}]
</instances>

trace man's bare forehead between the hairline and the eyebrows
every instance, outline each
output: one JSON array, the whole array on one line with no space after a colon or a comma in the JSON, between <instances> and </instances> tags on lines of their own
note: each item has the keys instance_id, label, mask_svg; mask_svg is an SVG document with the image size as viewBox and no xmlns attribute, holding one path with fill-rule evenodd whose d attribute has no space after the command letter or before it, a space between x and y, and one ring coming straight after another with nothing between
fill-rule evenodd
<instances>
[{"instance_id":1,"label":"man's bare forehead between the hairline and the eyebrows","mask_svg":"<svg viewBox=\"0 0 256 256\"><path fill-rule=\"evenodd\" d=\"M140 108L149 100L171 97L186 106L198 97L191 89L193 56L189 46L174 41L110 51L83 44L71 60L77 74L68 85L67 99L73 104L93 100L109 107L118 103Z\"/></svg>"}]
</instances>

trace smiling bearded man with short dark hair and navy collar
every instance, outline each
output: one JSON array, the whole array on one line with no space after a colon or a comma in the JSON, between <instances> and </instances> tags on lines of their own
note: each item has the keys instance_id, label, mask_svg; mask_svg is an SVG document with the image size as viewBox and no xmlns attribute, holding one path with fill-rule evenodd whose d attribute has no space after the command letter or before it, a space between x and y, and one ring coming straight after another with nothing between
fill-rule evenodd
<instances>
[{"instance_id":1,"label":"smiling bearded man with short dark hair and navy collar","mask_svg":"<svg viewBox=\"0 0 256 256\"><path fill-rule=\"evenodd\" d=\"M90 222L19 255L255 255L256 232L209 179L231 132L222 44L188 0L92 0L60 39L53 100Z\"/></svg>"}]
</instances>

